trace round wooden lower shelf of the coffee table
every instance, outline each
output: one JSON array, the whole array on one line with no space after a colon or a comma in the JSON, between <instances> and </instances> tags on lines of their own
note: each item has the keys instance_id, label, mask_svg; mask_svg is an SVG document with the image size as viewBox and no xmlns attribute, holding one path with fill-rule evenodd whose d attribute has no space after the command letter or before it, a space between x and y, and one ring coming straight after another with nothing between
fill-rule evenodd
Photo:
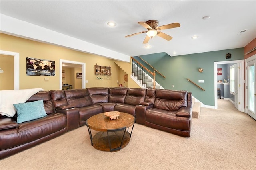
<instances>
[{"instance_id":1,"label":"round wooden lower shelf of the coffee table","mask_svg":"<svg viewBox=\"0 0 256 170\"><path fill-rule=\"evenodd\" d=\"M124 137L124 138L123 138ZM122 141L123 140L123 141ZM98 132L92 138L93 147L102 151L118 151L128 145L130 133L127 131ZM122 144L121 144L122 143Z\"/></svg>"}]
</instances>

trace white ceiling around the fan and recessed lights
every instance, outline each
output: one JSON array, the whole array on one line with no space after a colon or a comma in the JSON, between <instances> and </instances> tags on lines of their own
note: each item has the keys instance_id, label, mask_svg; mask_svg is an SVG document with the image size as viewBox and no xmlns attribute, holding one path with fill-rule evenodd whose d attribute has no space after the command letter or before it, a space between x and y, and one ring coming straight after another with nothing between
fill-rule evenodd
<instances>
[{"instance_id":1,"label":"white ceiling around the fan and recessed lights","mask_svg":"<svg viewBox=\"0 0 256 170\"><path fill-rule=\"evenodd\" d=\"M59 33L137 56L166 52L171 56L234 49L256 38L256 1L0 1L1 14L33 23ZM208 20L202 17L210 15ZM139 21L158 20L159 26L180 23L162 30L173 37L150 39L150 49L142 44L146 34ZM108 21L116 22L109 27ZM246 30L243 34L238 34ZM191 39L198 35L198 39ZM173 52L176 54L173 54Z\"/></svg>"}]
</instances>

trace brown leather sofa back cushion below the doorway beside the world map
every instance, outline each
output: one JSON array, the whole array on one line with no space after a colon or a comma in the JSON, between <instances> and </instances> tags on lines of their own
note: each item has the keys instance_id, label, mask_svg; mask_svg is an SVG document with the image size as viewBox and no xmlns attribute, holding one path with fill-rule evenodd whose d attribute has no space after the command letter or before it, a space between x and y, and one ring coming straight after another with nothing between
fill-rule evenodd
<instances>
[{"instance_id":1,"label":"brown leather sofa back cushion below the doorway beside the world map","mask_svg":"<svg viewBox=\"0 0 256 170\"><path fill-rule=\"evenodd\" d=\"M74 107L85 107L92 104L87 89L64 90L68 104Z\"/></svg>"}]
</instances>

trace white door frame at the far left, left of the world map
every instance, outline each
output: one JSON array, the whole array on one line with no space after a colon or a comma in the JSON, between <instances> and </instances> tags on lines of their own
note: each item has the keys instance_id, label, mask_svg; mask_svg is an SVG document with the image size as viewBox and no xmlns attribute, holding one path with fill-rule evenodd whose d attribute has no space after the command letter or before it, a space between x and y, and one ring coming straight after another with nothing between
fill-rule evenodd
<instances>
[{"instance_id":1,"label":"white door frame at the far left, left of the world map","mask_svg":"<svg viewBox=\"0 0 256 170\"><path fill-rule=\"evenodd\" d=\"M14 57L14 90L20 89L20 53L0 50L0 54Z\"/></svg>"}]
</instances>

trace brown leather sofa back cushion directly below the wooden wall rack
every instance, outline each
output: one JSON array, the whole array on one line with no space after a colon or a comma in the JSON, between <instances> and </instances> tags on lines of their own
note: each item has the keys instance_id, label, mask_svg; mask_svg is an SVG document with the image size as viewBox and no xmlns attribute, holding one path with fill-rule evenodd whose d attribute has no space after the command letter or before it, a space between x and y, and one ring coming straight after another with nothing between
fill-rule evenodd
<instances>
[{"instance_id":1,"label":"brown leather sofa back cushion directly below the wooden wall rack","mask_svg":"<svg viewBox=\"0 0 256 170\"><path fill-rule=\"evenodd\" d=\"M105 87L91 87L87 88L92 104L108 103L108 88Z\"/></svg>"}]
</instances>

